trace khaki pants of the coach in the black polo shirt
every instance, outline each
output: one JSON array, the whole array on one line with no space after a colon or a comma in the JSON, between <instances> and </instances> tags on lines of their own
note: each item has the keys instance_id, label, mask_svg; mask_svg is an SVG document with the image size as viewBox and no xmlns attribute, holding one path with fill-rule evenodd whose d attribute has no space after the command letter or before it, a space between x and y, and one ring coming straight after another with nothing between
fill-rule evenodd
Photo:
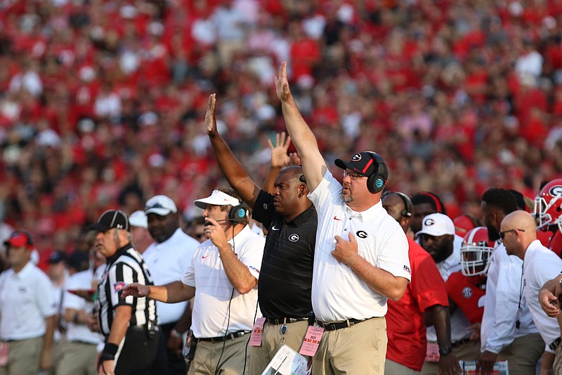
<instances>
[{"instance_id":1,"label":"khaki pants of the coach in the black polo shirt","mask_svg":"<svg viewBox=\"0 0 562 375\"><path fill-rule=\"evenodd\" d=\"M261 346L251 346L248 348L250 353L250 375L261 375L284 343L296 352L299 352L301 349L306 330L308 329L308 320L287 324L287 333L285 335L282 335L280 332L281 326L282 324L269 324L268 322L263 324Z\"/></svg>"}]
</instances>

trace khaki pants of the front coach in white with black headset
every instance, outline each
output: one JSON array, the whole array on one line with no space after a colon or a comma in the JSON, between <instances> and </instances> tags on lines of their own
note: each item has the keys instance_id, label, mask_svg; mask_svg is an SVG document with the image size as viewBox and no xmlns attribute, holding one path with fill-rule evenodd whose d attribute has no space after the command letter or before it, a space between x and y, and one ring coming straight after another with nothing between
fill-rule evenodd
<instances>
[{"instance_id":1,"label":"khaki pants of the front coach in white with black headset","mask_svg":"<svg viewBox=\"0 0 562 375\"><path fill-rule=\"evenodd\" d=\"M383 375L387 340L384 317L324 331L313 358L312 373Z\"/></svg>"}]
</instances>

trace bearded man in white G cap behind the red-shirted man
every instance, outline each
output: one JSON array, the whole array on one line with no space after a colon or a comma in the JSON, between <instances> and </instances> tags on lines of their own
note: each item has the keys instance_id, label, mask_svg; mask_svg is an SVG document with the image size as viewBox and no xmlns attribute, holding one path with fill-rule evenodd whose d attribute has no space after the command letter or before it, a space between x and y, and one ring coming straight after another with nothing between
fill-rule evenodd
<instances>
[{"instance_id":1,"label":"bearded man in white G cap behind the red-shirted man","mask_svg":"<svg viewBox=\"0 0 562 375\"><path fill-rule=\"evenodd\" d=\"M449 277L462 269L460 249L463 239L455 234L455 224L447 215L433 213L424 217L421 222L421 231L416 233L416 237L419 245L436 262L446 285ZM474 360L478 357L479 345L476 341L471 340L470 323L462 309L457 308L451 298L449 304L452 350L459 360ZM429 343L437 341L433 327L429 327L427 330L427 340ZM437 371L436 364L426 360L421 374L436 374Z\"/></svg>"}]
</instances>

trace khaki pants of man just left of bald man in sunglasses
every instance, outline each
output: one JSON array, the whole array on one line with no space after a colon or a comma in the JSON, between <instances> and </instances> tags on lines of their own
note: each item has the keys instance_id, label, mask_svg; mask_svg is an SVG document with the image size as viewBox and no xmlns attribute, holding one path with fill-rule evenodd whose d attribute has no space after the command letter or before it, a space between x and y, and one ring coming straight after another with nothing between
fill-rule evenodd
<instances>
[{"instance_id":1,"label":"khaki pants of man just left of bald man in sunglasses","mask_svg":"<svg viewBox=\"0 0 562 375\"><path fill-rule=\"evenodd\" d=\"M540 333L530 333L516 338L497 355L498 361L507 361L510 375L535 374L537 362L544 352ZM556 374L556 372L555 372Z\"/></svg>"}]
</instances>

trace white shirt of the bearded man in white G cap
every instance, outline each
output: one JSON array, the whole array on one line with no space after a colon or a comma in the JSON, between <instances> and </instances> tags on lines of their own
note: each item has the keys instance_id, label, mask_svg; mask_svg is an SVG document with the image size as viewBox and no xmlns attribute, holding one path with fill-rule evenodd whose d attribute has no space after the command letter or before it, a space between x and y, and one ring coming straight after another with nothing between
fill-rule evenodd
<instances>
[{"instance_id":1,"label":"white shirt of the bearded man in white G cap","mask_svg":"<svg viewBox=\"0 0 562 375\"><path fill-rule=\"evenodd\" d=\"M450 275L454 272L459 272L461 267L461 246L462 237L455 234L455 239L453 240L452 254L443 260L443 262L436 263L437 269L443 281L447 281ZM471 331L469 330L470 322L466 319L466 315L462 312L462 309L457 309L453 314L451 314L451 341L459 341L467 336L470 336ZM434 326L427 327L427 340L436 342L437 333Z\"/></svg>"}]
</instances>

